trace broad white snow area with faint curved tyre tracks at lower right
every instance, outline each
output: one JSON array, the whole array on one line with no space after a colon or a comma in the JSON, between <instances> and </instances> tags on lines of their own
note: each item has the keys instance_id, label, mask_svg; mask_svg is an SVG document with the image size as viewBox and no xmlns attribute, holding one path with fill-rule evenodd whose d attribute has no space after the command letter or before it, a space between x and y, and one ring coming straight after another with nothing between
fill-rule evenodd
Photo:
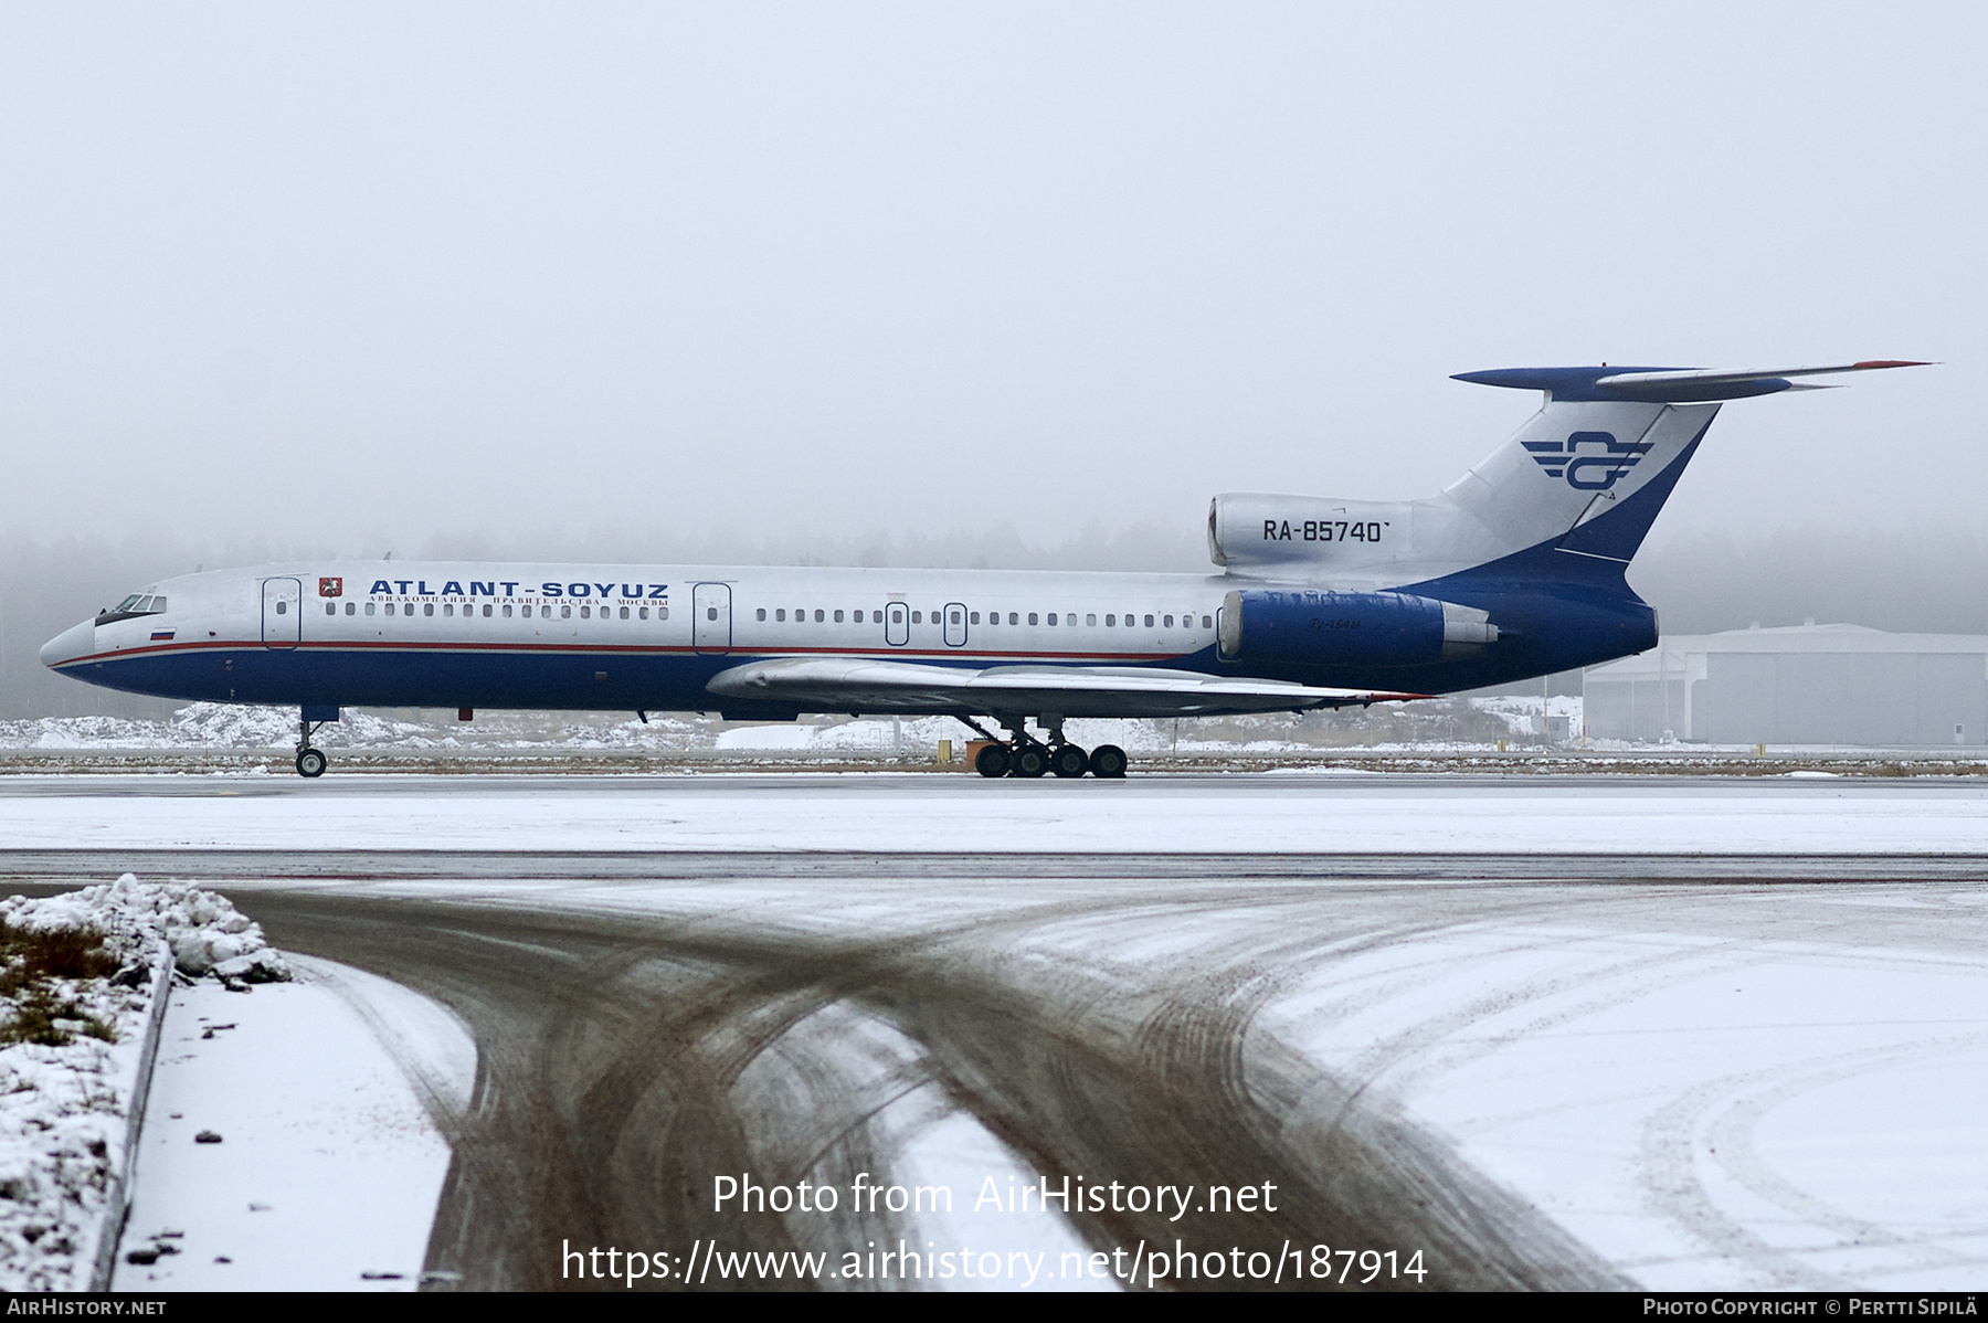
<instances>
[{"instance_id":1,"label":"broad white snow area with faint curved tyre tracks at lower right","mask_svg":"<svg viewBox=\"0 0 1988 1323\"><path fill-rule=\"evenodd\" d=\"M1487 924L1320 963L1266 1023L1652 1289L1988 1281L1972 954Z\"/></svg>"}]
</instances>

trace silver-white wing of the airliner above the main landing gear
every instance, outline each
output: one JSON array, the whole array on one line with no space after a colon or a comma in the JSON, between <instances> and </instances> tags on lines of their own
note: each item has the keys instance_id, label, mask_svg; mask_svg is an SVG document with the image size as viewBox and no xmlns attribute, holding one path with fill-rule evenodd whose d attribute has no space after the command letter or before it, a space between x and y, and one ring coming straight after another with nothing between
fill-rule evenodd
<instances>
[{"instance_id":1,"label":"silver-white wing of the airliner above the main landing gear","mask_svg":"<svg viewBox=\"0 0 1988 1323\"><path fill-rule=\"evenodd\" d=\"M1062 717L1195 717L1352 707L1427 697L1384 689L1322 689L1139 665L924 665L869 658L779 658L720 671L712 693L811 711L1058 713Z\"/></svg>"}]
</instances>

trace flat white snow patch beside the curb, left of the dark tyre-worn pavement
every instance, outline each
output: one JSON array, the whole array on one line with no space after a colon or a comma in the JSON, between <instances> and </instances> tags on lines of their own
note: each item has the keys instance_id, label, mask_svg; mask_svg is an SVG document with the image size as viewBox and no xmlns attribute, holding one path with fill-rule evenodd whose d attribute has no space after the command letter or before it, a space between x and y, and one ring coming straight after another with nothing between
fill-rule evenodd
<instances>
[{"instance_id":1,"label":"flat white snow patch beside the curb, left of the dark tyre-worn pavement","mask_svg":"<svg viewBox=\"0 0 1988 1323\"><path fill-rule=\"evenodd\" d=\"M449 1168L437 1116L467 1106L475 1043L398 983L292 961L298 981L250 995L173 993L115 1289L419 1283Z\"/></svg>"}]
</instances>

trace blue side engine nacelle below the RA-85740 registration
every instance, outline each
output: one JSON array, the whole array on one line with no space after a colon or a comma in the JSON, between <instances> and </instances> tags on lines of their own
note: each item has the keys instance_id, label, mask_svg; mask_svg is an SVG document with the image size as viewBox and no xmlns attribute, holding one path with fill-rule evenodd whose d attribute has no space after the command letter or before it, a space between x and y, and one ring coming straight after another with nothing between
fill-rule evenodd
<instances>
[{"instance_id":1,"label":"blue side engine nacelle below the RA-85740 registration","mask_svg":"<svg viewBox=\"0 0 1988 1323\"><path fill-rule=\"evenodd\" d=\"M1483 656L1489 612L1406 592L1231 592L1217 636L1225 662L1423 665Z\"/></svg>"}]
</instances>

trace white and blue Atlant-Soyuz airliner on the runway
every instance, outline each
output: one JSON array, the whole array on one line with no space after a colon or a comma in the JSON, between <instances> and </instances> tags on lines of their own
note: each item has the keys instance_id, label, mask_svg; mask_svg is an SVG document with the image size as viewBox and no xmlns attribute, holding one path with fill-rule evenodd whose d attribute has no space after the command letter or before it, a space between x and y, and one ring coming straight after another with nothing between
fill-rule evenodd
<instances>
[{"instance_id":1,"label":"white and blue Atlant-Soyuz airliner on the runway","mask_svg":"<svg viewBox=\"0 0 1988 1323\"><path fill-rule=\"evenodd\" d=\"M1125 751L1072 743L1070 717L1368 705L1654 648L1626 570L1722 403L1916 366L1459 373L1541 409L1421 501L1219 495L1211 574L314 560L159 580L42 662L296 707L304 777L312 735L366 705L950 715L984 777L1117 779Z\"/></svg>"}]
</instances>

